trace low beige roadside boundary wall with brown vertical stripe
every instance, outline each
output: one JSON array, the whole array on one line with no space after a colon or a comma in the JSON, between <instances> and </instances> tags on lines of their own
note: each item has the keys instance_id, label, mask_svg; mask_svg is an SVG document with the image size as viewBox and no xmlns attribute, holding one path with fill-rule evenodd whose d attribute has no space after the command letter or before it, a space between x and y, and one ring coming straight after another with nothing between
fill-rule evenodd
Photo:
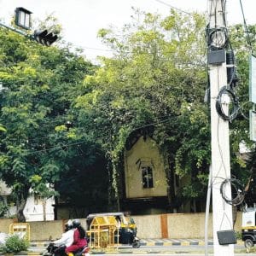
<instances>
[{"instance_id":1,"label":"low beige roadside boundary wall with brown vertical stripe","mask_svg":"<svg viewBox=\"0 0 256 256\"><path fill-rule=\"evenodd\" d=\"M205 213L169 213L132 216L140 238L204 238ZM45 241L61 237L67 220L29 222L31 241ZM86 228L86 219L80 219ZM9 233L14 219L0 218L0 232ZM230 221L230 224L232 221ZM230 227L230 230L232 228ZM241 231L241 212L237 212L236 231ZM208 237L212 237L212 214L208 220Z\"/></svg>"}]
</instances>

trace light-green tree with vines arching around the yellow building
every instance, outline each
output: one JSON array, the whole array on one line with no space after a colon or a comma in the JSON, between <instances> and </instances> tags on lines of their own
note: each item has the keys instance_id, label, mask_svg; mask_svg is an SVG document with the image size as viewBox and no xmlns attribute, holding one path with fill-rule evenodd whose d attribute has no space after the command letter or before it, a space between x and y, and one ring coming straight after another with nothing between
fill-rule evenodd
<instances>
[{"instance_id":1,"label":"light-green tree with vines arching around the yellow building","mask_svg":"<svg viewBox=\"0 0 256 256\"><path fill-rule=\"evenodd\" d=\"M159 143L172 199L177 197L172 189L175 173L180 177L192 173L197 183L206 183L210 160L209 127L204 123L208 110L203 103L207 85L203 16L172 10L163 19L135 10L133 21L121 32L100 30L99 36L115 54L102 58L102 67L86 77L87 91L76 104L79 120L105 148L113 185L110 195L117 209L123 152L131 132L143 130ZM189 159L183 161L188 152ZM198 197L188 189L189 185L181 195ZM197 190L201 195L205 191L200 185ZM172 211L174 206L170 207Z\"/></svg>"}]
</instances>

